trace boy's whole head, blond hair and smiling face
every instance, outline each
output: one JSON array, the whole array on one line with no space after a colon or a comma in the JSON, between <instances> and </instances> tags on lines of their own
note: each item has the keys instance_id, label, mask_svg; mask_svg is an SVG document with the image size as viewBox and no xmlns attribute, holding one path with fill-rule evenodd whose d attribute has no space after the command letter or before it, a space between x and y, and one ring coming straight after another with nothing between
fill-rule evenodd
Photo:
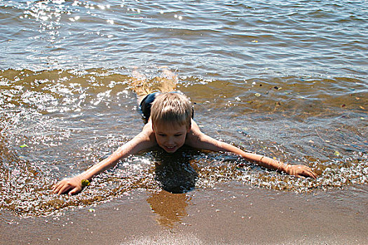
<instances>
[{"instance_id":1,"label":"boy's whole head, blond hair and smiling face","mask_svg":"<svg viewBox=\"0 0 368 245\"><path fill-rule=\"evenodd\" d=\"M185 143L191 129L193 109L189 99L179 93L159 94L151 107L152 129L158 146L174 153Z\"/></svg>"}]
</instances>

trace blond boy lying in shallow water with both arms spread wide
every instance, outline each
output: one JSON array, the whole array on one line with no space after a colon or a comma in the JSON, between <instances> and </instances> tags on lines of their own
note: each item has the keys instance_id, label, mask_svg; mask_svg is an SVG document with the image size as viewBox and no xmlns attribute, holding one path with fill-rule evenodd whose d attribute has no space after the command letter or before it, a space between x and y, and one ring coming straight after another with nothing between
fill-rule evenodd
<instances>
[{"instance_id":1,"label":"blond boy lying in shallow water with both arms spread wide","mask_svg":"<svg viewBox=\"0 0 368 245\"><path fill-rule=\"evenodd\" d=\"M136 72L134 74L137 75ZM160 146L167 153L175 153L184 144L203 150L235 153L268 169L278 169L302 178L316 178L316 174L304 165L287 165L263 155L246 153L236 146L218 141L200 132L198 125L193 120L193 108L189 99L179 92L173 92L175 74L168 70L164 70L164 74L167 78L161 80L162 93L149 93L151 89L145 87L144 78L143 81L137 80L133 83L133 90L139 95L140 108L146 119L142 132L119 147L108 158L93 165L82 174L56 183L53 186L53 193L74 195L88 185L93 176L114 167L122 158L154 146Z\"/></svg>"}]
</instances>

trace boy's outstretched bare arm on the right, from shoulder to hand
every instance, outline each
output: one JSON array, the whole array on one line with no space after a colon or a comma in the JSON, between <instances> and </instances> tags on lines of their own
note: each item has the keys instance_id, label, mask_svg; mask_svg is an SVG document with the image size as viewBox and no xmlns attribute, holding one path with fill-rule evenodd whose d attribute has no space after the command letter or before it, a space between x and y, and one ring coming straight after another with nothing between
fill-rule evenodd
<instances>
[{"instance_id":1,"label":"boy's outstretched bare arm on the right, from shoulder to hand","mask_svg":"<svg viewBox=\"0 0 368 245\"><path fill-rule=\"evenodd\" d=\"M302 178L312 177L314 179L317 177L317 175L307 166L287 165L286 163L273 160L272 158L268 158L264 155L246 153L245 151L240 150L236 146L231 146L231 144L227 144L225 142L213 139L212 137L203 134L203 132L200 132L198 125L193 120L191 120L191 131L188 133L186 144L194 148L204 150L236 153L238 155L241 155L243 158L247 159L250 162L257 163L261 167L266 167L268 169L278 169L282 172L294 176Z\"/></svg>"}]
</instances>

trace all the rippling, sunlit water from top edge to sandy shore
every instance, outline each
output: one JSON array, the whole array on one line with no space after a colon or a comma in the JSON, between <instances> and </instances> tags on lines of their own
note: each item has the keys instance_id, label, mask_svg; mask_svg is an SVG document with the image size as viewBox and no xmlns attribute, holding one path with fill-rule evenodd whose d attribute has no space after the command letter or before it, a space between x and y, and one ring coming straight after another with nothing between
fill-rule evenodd
<instances>
[{"instance_id":1,"label":"all the rippling, sunlit water from top edge to sandy shore","mask_svg":"<svg viewBox=\"0 0 368 245\"><path fill-rule=\"evenodd\" d=\"M313 193L367 185L367 1L0 1L0 208L58 214L131 190L240 181ZM142 129L131 72L168 66L216 139L290 164L296 179L233 155L158 149L69 197L50 186ZM179 173L179 174L177 174ZM364 199L368 193L357 188Z\"/></svg>"}]
</instances>

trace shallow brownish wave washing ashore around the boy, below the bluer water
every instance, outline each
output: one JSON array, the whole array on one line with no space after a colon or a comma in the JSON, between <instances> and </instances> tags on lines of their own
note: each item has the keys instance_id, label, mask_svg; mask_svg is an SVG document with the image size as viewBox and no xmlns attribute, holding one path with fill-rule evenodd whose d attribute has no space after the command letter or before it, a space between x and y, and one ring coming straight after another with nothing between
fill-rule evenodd
<instances>
[{"instance_id":1,"label":"shallow brownish wave washing ashore around the boy, below the bluer water","mask_svg":"<svg viewBox=\"0 0 368 245\"><path fill-rule=\"evenodd\" d=\"M146 70L154 81L159 71ZM142 129L129 89L133 78L126 73L0 72L1 209L46 216L139 189L185 193L227 181L299 193L367 185L367 85L362 80L179 76L178 89L191 97L204 132L246 151L310 165L318 179L297 179L231 155L186 148L175 159L160 151L132 156L79 195L51 195L56 179L83 172Z\"/></svg>"}]
</instances>

